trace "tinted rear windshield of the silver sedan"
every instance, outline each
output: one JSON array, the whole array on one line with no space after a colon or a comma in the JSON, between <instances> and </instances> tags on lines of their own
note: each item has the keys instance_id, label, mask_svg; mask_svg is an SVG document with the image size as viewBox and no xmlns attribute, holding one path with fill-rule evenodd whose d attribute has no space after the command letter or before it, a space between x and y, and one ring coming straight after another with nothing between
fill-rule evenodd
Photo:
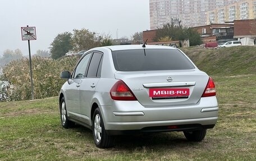
<instances>
[{"instance_id":1,"label":"tinted rear windshield of the silver sedan","mask_svg":"<svg viewBox=\"0 0 256 161\"><path fill-rule=\"evenodd\" d=\"M176 49L132 49L112 52L117 71L190 70L195 67Z\"/></svg>"}]
</instances>

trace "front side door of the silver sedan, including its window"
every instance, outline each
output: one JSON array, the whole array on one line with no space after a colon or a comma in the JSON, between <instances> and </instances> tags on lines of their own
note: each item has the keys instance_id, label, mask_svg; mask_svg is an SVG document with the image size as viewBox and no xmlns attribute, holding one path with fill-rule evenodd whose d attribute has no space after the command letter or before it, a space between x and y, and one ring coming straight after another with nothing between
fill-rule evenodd
<instances>
[{"instance_id":1,"label":"front side door of the silver sedan, including its window","mask_svg":"<svg viewBox=\"0 0 256 161\"><path fill-rule=\"evenodd\" d=\"M88 67L92 53L86 54L79 63L77 63L72 78L68 80L66 90L66 107L70 117L79 119L79 88L85 77L86 68Z\"/></svg>"}]
</instances>

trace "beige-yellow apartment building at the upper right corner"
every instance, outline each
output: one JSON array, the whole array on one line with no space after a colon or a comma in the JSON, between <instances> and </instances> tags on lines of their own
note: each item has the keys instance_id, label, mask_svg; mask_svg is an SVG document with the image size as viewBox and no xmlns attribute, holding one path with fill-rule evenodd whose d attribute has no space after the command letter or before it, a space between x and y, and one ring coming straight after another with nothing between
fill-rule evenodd
<instances>
[{"instance_id":1,"label":"beige-yellow apartment building at the upper right corner","mask_svg":"<svg viewBox=\"0 0 256 161\"><path fill-rule=\"evenodd\" d=\"M256 19L256 0L243 0L207 12L207 24Z\"/></svg>"}]
</instances>

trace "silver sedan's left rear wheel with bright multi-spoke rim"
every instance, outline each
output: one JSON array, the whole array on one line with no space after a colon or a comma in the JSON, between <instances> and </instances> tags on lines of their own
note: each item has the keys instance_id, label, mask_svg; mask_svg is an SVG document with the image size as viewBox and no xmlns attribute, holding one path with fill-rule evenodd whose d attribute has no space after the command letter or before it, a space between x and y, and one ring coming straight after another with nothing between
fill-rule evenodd
<instances>
[{"instance_id":1,"label":"silver sedan's left rear wheel with bright multi-spoke rim","mask_svg":"<svg viewBox=\"0 0 256 161\"><path fill-rule=\"evenodd\" d=\"M113 145L113 138L106 133L99 108L96 108L94 111L92 124L95 145L98 148L110 148Z\"/></svg>"}]
</instances>

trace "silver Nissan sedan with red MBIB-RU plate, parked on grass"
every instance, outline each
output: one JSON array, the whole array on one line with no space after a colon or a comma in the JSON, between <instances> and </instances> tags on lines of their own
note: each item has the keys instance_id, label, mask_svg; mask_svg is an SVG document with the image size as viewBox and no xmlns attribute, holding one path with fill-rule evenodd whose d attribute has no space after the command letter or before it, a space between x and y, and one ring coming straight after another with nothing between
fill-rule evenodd
<instances>
[{"instance_id":1,"label":"silver Nissan sedan with red MBIB-RU plate, parked on grass","mask_svg":"<svg viewBox=\"0 0 256 161\"><path fill-rule=\"evenodd\" d=\"M115 135L182 131L201 141L218 119L215 85L178 48L117 45L88 50L60 90L64 128L93 132L98 148Z\"/></svg>"}]
</instances>

